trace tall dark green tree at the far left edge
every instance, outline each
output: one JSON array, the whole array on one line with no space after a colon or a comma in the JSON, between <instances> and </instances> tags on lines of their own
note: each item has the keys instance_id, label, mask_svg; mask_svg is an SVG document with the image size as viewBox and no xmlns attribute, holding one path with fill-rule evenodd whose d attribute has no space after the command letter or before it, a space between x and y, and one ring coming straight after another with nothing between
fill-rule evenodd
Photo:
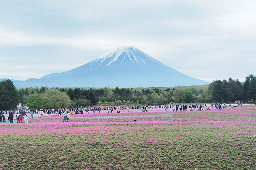
<instances>
[{"instance_id":1,"label":"tall dark green tree at the far left edge","mask_svg":"<svg viewBox=\"0 0 256 170\"><path fill-rule=\"evenodd\" d=\"M0 82L0 109L14 109L18 102L18 92L12 81L7 79Z\"/></svg>"}]
</instances>

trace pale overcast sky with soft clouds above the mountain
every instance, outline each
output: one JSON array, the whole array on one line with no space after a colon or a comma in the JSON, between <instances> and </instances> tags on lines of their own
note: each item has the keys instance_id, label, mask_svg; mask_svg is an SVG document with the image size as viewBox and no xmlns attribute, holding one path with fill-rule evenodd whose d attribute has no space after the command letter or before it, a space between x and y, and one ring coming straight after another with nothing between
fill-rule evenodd
<instances>
[{"instance_id":1,"label":"pale overcast sky with soft clouds above the mountain","mask_svg":"<svg viewBox=\"0 0 256 170\"><path fill-rule=\"evenodd\" d=\"M68 71L120 45L191 77L244 81L256 74L256 1L0 0L0 78Z\"/></svg>"}]
</instances>

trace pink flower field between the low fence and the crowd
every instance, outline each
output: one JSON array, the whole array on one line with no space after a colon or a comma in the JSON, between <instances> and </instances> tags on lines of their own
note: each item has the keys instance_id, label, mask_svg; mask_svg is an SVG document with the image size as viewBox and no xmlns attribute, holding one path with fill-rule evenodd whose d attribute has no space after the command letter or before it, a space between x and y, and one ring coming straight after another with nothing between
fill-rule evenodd
<instances>
[{"instance_id":1,"label":"pink flower field between the low fence and the crowd","mask_svg":"<svg viewBox=\"0 0 256 170\"><path fill-rule=\"evenodd\" d=\"M142 113L138 109L122 110L121 113L107 113L102 111L101 113L89 113L70 115L70 121L131 121L138 119L139 121L256 121L256 108L245 107L239 109L222 109L209 111L178 111L174 112L168 109L168 112L164 112L163 109L155 109L157 111L151 111L148 113ZM28 119L30 123L33 122L52 122L62 121L63 116L48 116L43 118Z\"/></svg>"}]
</instances>

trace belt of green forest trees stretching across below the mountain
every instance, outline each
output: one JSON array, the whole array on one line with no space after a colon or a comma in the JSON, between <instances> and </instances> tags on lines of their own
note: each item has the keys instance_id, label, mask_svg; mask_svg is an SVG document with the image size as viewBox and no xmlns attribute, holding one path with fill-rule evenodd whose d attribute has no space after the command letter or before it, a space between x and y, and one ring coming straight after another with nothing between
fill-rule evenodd
<instances>
[{"instance_id":1,"label":"belt of green forest trees stretching across below the mountain","mask_svg":"<svg viewBox=\"0 0 256 170\"><path fill-rule=\"evenodd\" d=\"M87 105L165 105L169 103L212 103L212 102L244 102L255 103L256 77L249 75L241 83L238 79L215 80L210 85L166 87L166 88L48 88L29 87L8 91L12 82L5 80L0 83L0 109L9 107L9 99L23 103L30 108L57 108ZM13 84L12 84L13 85ZM3 92L2 92L3 91ZM17 97L15 97L15 91ZM12 97L5 98L4 96ZM5 104L4 104L5 103ZM14 104L10 105L13 108Z\"/></svg>"}]
</instances>

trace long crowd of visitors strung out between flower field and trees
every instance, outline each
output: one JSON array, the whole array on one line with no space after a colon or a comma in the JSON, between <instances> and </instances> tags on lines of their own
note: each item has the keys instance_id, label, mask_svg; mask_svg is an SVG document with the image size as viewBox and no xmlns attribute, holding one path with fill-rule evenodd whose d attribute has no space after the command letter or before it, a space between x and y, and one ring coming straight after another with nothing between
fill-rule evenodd
<instances>
[{"instance_id":1,"label":"long crowd of visitors strung out between flower field and trees","mask_svg":"<svg viewBox=\"0 0 256 170\"><path fill-rule=\"evenodd\" d=\"M242 101L237 102L238 105L242 105ZM230 106L231 104L229 104ZM227 104L226 103L215 103L211 104L211 107L215 107L215 109L226 109ZM93 107L74 107L70 109L64 109L64 108L53 108L53 109L29 109L27 106L22 106L21 108L14 109L14 111L0 111L0 122L6 121L8 117L8 121L10 123L13 123L13 119L15 119L14 115L16 115L17 123L22 123L23 121L27 123L27 117L29 115L29 118L33 119L35 115L36 117L40 118L43 117L43 115L63 115L63 122L68 122L70 118L70 114L89 114L90 113L101 113L102 110L107 111L108 113L113 113L113 111L116 111L116 113L120 113L121 110L126 109L141 109L142 113L148 112L148 109L164 109L165 112L168 111L169 108L172 108L173 111L201 111L201 110L210 110L210 107L207 107L206 104L190 104L190 105L138 105L138 106L93 106ZM30 117L31 115L31 117Z\"/></svg>"}]
</instances>

